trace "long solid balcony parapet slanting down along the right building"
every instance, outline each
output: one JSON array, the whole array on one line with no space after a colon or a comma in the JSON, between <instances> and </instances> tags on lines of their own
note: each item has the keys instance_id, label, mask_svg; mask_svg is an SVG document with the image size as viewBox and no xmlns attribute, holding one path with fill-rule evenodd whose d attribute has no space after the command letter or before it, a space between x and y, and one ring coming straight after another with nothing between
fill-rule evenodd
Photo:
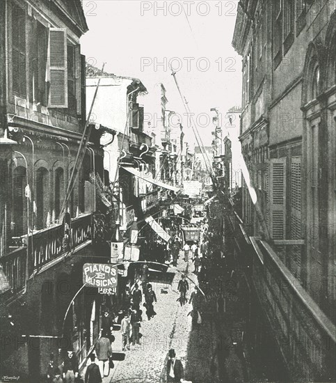
<instances>
[{"instance_id":1,"label":"long solid balcony parapet slanting down along the right building","mask_svg":"<svg viewBox=\"0 0 336 383\"><path fill-rule=\"evenodd\" d=\"M230 221L240 264L267 312L289 370L307 380L329 381L335 377L335 324L268 242L248 237L237 214Z\"/></svg>"}]
</instances>

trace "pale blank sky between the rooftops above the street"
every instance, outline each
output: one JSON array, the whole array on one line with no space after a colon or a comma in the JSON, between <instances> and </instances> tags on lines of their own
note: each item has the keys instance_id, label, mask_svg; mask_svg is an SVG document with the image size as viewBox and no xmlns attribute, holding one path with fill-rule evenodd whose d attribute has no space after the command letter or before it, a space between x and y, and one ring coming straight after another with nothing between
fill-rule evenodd
<instances>
[{"instance_id":1,"label":"pale blank sky between the rooftops above the street","mask_svg":"<svg viewBox=\"0 0 336 383\"><path fill-rule=\"evenodd\" d=\"M106 62L106 72L141 79L149 92L162 82L166 107L182 116L185 138L192 146L195 138L183 115L170 64L195 114L202 141L209 146L214 130L210 109L217 107L225 115L227 109L241 104L241 57L231 46L237 4L83 0L90 30L81 40L82 53L97 68Z\"/></svg>"}]
</instances>

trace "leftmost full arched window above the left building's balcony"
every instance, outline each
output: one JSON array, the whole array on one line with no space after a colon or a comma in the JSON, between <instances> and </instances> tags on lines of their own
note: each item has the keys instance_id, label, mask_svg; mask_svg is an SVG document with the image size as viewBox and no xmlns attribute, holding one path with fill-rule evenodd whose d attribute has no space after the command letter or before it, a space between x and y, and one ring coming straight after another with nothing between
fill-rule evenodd
<instances>
[{"instance_id":1,"label":"leftmost full arched window above the left building's balcony","mask_svg":"<svg viewBox=\"0 0 336 383\"><path fill-rule=\"evenodd\" d=\"M13 170L13 237L21 237L26 233L26 168L17 166Z\"/></svg>"}]
</instances>

